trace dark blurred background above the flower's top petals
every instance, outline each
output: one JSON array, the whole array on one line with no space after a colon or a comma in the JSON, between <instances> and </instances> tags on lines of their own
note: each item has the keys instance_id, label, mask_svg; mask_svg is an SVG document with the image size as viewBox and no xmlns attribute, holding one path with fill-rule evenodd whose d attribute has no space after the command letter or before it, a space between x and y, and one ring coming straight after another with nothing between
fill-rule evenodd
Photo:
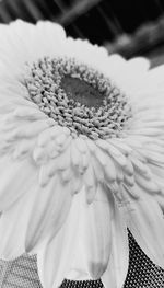
<instances>
[{"instance_id":1,"label":"dark blurred background above the flower's top petals","mask_svg":"<svg viewBox=\"0 0 164 288\"><path fill-rule=\"evenodd\" d=\"M15 19L55 21L109 53L164 62L164 0L0 0L0 22Z\"/></svg>"}]
</instances>

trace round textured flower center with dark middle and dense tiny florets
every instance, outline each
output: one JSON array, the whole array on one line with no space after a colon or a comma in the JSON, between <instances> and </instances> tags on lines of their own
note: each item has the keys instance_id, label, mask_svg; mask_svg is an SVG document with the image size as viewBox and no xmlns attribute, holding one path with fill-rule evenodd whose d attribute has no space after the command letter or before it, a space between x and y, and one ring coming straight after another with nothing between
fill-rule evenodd
<instances>
[{"instance_id":1,"label":"round textured flower center with dark middle and dense tiny florets","mask_svg":"<svg viewBox=\"0 0 164 288\"><path fill-rule=\"evenodd\" d=\"M87 65L72 58L45 57L27 68L25 85L31 100L74 137L119 137L131 117L126 96Z\"/></svg>"}]
</instances>

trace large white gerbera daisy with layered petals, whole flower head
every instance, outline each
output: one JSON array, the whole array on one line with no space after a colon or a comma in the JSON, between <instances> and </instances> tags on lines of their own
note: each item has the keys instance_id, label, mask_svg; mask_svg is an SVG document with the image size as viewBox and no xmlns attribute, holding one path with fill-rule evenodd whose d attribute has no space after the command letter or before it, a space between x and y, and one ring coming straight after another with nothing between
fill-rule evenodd
<instances>
[{"instance_id":1,"label":"large white gerbera daisy with layered petals, whole flower head","mask_svg":"<svg viewBox=\"0 0 164 288\"><path fill-rule=\"evenodd\" d=\"M164 267L164 67L58 24L0 25L0 257L120 288L130 229Z\"/></svg>"}]
</instances>

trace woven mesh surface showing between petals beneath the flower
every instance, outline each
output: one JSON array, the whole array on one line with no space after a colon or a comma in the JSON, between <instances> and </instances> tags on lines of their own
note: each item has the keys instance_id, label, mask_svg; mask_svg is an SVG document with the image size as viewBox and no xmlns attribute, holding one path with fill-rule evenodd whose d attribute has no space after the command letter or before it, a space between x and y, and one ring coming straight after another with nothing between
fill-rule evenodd
<instances>
[{"instance_id":1,"label":"woven mesh surface showing between petals beneath the flower","mask_svg":"<svg viewBox=\"0 0 164 288\"><path fill-rule=\"evenodd\" d=\"M164 286L164 270L155 266L136 243L129 233L129 268L122 288L161 288ZM71 281L65 279L60 288L92 288L102 287L97 281ZM38 273L36 256L22 255L13 262L0 260L1 288L43 288Z\"/></svg>"}]
</instances>

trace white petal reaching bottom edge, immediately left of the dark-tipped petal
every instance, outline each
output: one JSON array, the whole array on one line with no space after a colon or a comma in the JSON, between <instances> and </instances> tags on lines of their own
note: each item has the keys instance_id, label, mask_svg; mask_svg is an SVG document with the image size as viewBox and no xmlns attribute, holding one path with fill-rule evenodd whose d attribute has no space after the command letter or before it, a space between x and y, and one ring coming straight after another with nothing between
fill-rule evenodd
<instances>
[{"instance_id":1,"label":"white petal reaching bottom edge, immediately left of the dark-tipped petal","mask_svg":"<svg viewBox=\"0 0 164 288\"><path fill-rule=\"evenodd\" d=\"M80 195L80 196L79 196ZM81 205L77 194L62 228L49 242L45 242L37 253L38 274L44 287L59 287L71 267L74 250L81 237ZM81 260L83 263L83 261ZM78 267L77 267L78 268Z\"/></svg>"}]
</instances>

